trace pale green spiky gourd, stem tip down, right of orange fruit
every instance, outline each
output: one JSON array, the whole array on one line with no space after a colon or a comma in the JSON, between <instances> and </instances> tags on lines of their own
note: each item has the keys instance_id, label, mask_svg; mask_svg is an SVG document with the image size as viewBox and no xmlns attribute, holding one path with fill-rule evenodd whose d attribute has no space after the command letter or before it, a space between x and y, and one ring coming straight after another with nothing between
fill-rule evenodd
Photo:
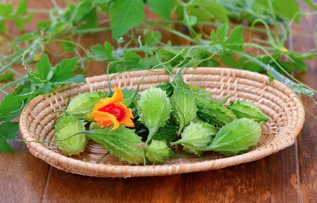
<instances>
[{"instance_id":1,"label":"pale green spiky gourd, stem tip down, right of orange fruit","mask_svg":"<svg viewBox=\"0 0 317 203\"><path fill-rule=\"evenodd\" d=\"M147 143L157 130L166 124L172 112L172 106L166 93L160 88L152 86L142 92L138 102L139 120L149 130Z\"/></svg>"}]
</instances>

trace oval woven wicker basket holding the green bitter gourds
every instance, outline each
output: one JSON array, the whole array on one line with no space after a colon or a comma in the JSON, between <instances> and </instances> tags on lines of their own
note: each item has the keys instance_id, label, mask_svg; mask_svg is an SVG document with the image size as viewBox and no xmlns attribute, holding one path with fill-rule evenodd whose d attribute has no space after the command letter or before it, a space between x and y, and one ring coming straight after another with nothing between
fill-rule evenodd
<instances>
[{"instance_id":1,"label":"oval woven wicker basket holding the green bitter gourds","mask_svg":"<svg viewBox=\"0 0 317 203\"><path fill-rule=\"evenodd\" d=\"M111 86L135 89L145 72L133 71L114 76ZM231 95L226 104L239 99L254 101L255 105L270 117L262 127L263 133L258 145L247 153L232 157L207 152L205 158L173 158L168 159L164 165L146 167L122 163L111 155L107 155L97 164L95 162L107 150L92 141L81 155L71 157L62 155L54 142L27 142L26 146L34 156L60 170L74 174L96 177L164 176L220 169L263 158L291 146L303 127L305 112L296 95L276 80L269 84L268 77L263 74L232 68L196 68L187 70L183 78L188 84L207 88L217 99ZM86 80L87 84L64 86L59 92L37 96L31 100L20 116L22 138L27 141L53 140L53 120L57 113L51 113L64 110L69 96L96 90L107 91L105 75L88 77ZM144 78L139 91L160 82L168 82L168 75L164 71L151 72ZM181 146L174 150L184 154Z\"/></svg>"}]
</instances>

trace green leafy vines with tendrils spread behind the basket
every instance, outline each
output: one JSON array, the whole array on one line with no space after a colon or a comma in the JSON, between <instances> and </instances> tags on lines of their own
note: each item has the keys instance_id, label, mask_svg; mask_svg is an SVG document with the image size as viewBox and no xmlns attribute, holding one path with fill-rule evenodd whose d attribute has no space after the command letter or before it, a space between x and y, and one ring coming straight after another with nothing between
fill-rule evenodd
<instances>
[{"instance_id":1,"label":"green leafy vines with tendrils spread behind the basket","mask_svg":"<svg viewBox=\"0 0 317 203\"><path fill-rule=\"evenodd\" d=\"M304 2L317 10L310 0ZM0 91L6 94L0 104L0 122L4 122L0 125L1 152L12 151L7 140L15 138L18 123L11 120L25 104L36 95L51 93L62 85L85 83L83 74L89 71L92 60L107 64L108 73L153 68L165 68L171 73L175 67L216 67L221 63L264 72L271 79L281 80L298 96L313 99L316 92L290 74L305 71L304 60L317 56L315 50L298 53L285 48L292 23L316 14L301 11L295 0L79 0L69 1L63 8L55 0L52 3L54 8L49 10L27 9L26 0L20 1L16 8L0 4L0 33L10 35L8 22L14 22L23 31L33 13L50 16L49 20L39 22L36 30L21 32L12 40L0 35ZM161 18L146 19L145 7ZM249 24L237 25L241 21ZM257 27L258 24L264 28ZM181 29L173 29L174 25L180 25ZM209 34L201 26L214 29ZM184 38L188 45L162 42L162 33L156 28ZM246 43L245 29L264 32L267 40L253 38L254 43ZM117 49L109 42L85 48L73 41L74 36L105 30L111 30ZM58 42L64 53L77 56L52 65L46 53L53 42ZM247 52L248 48L263 54L253 55ZM14 64L22 64L25 74L14 70ZM8 126L13 130L8 132Z\"/></svg>"}]
</instances>

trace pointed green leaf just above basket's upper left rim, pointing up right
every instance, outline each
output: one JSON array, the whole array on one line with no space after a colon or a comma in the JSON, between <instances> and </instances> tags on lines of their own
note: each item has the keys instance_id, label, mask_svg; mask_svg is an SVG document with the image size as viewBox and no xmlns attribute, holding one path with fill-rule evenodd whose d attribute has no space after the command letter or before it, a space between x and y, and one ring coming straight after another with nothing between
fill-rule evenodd
<instances>
[{"instance_id":1,"label":"pointed green leaf just above basket's upper left rim, pointing up right","mask_svg":"<svg viewBox=\"0 0 317 203\"><path fill-rule=\"evenodd\" d=\"M77 60L78 57L62 60L62 62L54 68L50 82L63 82L64 80L72 77L74 75L73 71L76 69Z\"/></svg>"}]
</instances>

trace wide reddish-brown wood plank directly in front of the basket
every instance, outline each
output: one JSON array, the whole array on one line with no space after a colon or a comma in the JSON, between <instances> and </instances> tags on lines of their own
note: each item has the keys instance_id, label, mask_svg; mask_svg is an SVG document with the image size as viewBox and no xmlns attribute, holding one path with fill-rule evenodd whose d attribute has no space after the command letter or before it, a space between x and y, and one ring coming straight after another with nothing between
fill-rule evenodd
<instances>
[{"instance_id":1,"label":"wide reddish-brown wood plank directly in front of the basket","mask_svg":"<svg viewBox=\"0 0 317 203\"><path fill-rule=\"evenodd\" d=\"M44 202L298 202L295 146L249 164L167 177L107 179L52 169ZM295 159L295 157L293 158Z\"/></svg>"}]
</instances>

